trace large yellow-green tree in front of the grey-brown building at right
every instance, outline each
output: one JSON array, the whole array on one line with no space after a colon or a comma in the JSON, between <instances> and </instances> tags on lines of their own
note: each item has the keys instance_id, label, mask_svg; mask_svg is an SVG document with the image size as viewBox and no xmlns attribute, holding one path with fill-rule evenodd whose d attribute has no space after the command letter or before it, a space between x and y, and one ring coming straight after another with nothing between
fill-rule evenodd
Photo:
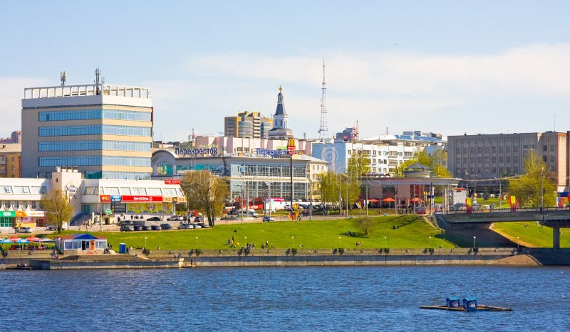
<instances>
[{"instance_id":1,"label":"large yellow-green tree in front of the grey-brown building at right","mask_svg":"<svg viewBox=\"0 0 570 332\"><path fill-rule=\"evenodd\" d=\"M546 164L534 150L524 158L524 171L523 176L510 179L508 185L509 195L519 200L520 207L539 208L541 197L544 206L556 205L554 173L546 171Z\"/></svg>"}]
</instances>

